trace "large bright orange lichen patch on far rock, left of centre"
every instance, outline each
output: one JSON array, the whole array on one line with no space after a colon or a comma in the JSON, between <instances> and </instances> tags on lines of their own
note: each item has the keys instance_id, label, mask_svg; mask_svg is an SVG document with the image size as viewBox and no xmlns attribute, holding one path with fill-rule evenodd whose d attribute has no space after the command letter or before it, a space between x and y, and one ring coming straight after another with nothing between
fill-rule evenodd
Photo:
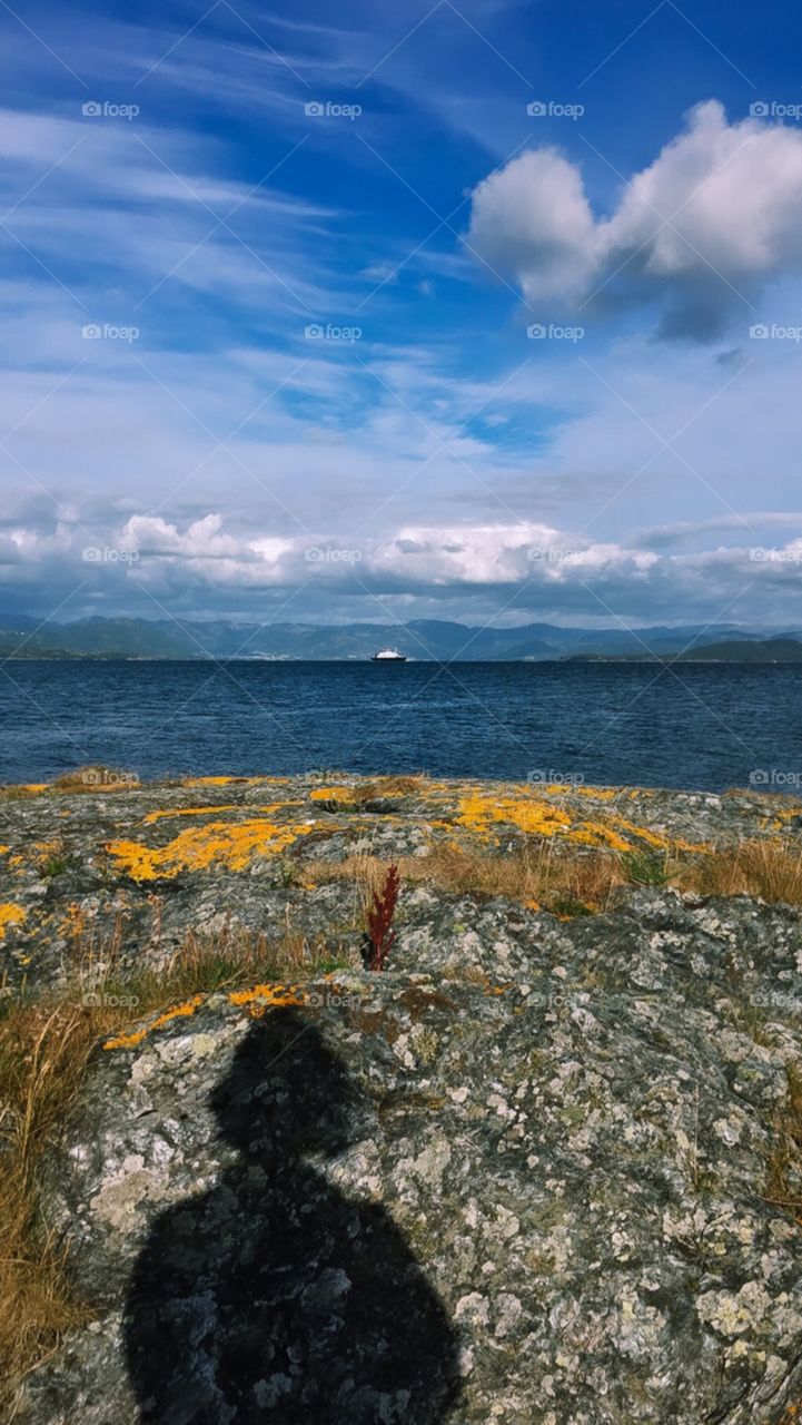
<instances>
[{"instance_id":1,"label":"large bright orange lichen patch on far rock, left of centre","mask_svg":"<svg viewBox=\"0 0 802 1425\"><path fill-rule=\"evenodd\" d=\"M276 812L279 804L265 807ZM208 871L221 865L228 871L245 871L254 856L285 851L309 831L308 825L278 826L266 817L248 821L211 821L205 826L182 831L167 846L145 846L138 841L110 841L105 849L132 881L172 879L181 871Z\"/></svg>"}]
</instances>

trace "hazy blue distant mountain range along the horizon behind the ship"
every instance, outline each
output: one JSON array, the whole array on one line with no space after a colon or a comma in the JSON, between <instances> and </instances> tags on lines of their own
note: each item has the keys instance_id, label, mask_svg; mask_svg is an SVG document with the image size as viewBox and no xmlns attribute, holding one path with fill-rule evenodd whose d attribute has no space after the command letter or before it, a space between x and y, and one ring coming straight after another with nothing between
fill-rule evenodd
<instances>
[{"instance_id":1,"label":"hazy blue distant mountain range along the horizon behind the ship","mask_svg":"<svg viewBox=\"0 0 802 1425\"><path fill-rule=\"evenodd\" d=\"M692 647L688 647L692 646ZM407 658L483 663L561 658L681 658L681 661L802 661L802 631L756 637L734 626L670 628L467 627L439 618L407 624L279 623L229 620L81 618L44 623L20 616L0 620L1 658L369 658L396 647Z\"/></svg>"}]
</instances>

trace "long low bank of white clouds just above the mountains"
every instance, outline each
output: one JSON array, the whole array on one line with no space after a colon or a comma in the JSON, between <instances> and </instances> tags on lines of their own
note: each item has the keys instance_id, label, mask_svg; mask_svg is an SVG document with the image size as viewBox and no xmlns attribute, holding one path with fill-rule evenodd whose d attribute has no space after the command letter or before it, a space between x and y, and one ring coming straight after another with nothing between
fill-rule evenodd
<instances>
[{"instance_id":1,"label":"long low bank of white clouds just above the mountains","mask_svg":"<svg viewBox=\"0 0 802 1425\"><path fill-rule=\"evenodd\" d=\"M756 520L761 516L755 517ZM771 519L776 519L771 516ZM709 522L727 527L727 520ZM678 536L679 529L674 533ZM103 530L95 524L91 559L83 526L56 533L19 527L0 550L0 596L14 590L38 607L37 576L47 567L44 610L60 617L164 611L266 617L288 606L289 617L484 620L499 608L519 620L611 624L731 617L802 618L802 537L755 550L746 539L678 551L594 542L541 522L400 524L360 542L279 536L246 530L217 512L167 522L134 516ZM668 544L675 543L672 540ZM668 614L668 610L671 611Z\"/></svg>"}]
</instances>

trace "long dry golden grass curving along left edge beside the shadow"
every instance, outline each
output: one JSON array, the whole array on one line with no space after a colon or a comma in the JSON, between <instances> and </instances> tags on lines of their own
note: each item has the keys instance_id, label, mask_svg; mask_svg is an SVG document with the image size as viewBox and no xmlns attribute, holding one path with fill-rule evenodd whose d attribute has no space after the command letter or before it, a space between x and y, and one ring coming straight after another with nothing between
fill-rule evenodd
<instances>
[{"instance_id":1,"label":"long dry golden grass curving along left edge beside the shadow","mask_svg":"<svg viewBox=\"0 0 802 1425\"><path fill-rule=\"evenodd\" d=\"M10 998L0 1020L0 1381L19 1377L87 1320L67 1280L63 1247L37 1204L38 1164L100 1039L197 993L312 975L338 962L289 931L281 943L224 931L188 935L162 968L124 973L120 935L78 938L70 983L38 999ZM98 966L104 966L98 978ZM0 1388L0 1408L1 1388Z\"/></svg>"}]
</instances>

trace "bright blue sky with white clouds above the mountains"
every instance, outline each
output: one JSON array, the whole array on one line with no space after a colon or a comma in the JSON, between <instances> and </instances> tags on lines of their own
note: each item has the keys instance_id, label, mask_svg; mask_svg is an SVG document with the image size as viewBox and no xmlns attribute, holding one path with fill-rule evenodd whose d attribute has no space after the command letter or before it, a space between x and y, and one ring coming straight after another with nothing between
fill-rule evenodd
<instances>
[{"instance_id":1,"label":"bright blue sky with white clouds above the mountains","mask_svg":"<svg viewBox=\"0 0 802 1425\"><path fill-rule=\"evenodd\" d=\"M0 28L0 611L802 626L786 7Z\"/></svg>"}]
</instances>

